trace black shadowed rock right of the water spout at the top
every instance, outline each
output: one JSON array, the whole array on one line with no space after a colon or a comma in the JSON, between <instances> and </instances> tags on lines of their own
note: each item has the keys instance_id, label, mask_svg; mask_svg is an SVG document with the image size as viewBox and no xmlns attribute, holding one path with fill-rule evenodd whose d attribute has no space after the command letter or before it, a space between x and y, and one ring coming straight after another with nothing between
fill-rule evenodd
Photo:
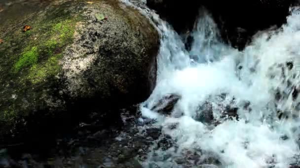
<instances>
[{"instance_id":1,"label":"black shadowed rock right of the water spout at the top","mask_svg":"<svg viewBox=\"0 0 300 168\"><path fill-rule=\"evenodd\" d=\"M257 31L284 24L289 15L289 7L294 2L296 0L212 0L207 2L207 7L221 28L223 38L243 49L245 42L251 41ZM240 32L237 28L246 31ZM245 39L243 42L239 41L241 37Z\"/></svg>"}]
</instances>

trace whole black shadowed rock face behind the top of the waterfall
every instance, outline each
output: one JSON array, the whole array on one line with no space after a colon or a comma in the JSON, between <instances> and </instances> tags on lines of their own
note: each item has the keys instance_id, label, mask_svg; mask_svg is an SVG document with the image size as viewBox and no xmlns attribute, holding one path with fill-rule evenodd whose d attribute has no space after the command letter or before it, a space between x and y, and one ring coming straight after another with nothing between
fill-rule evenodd
<instances>
[{"instance_id":1,"label":"whole black shadowed rock face behind the top of the waterfall","mask_svg":"<svg viewBox=\"0 0 300 168\"><path fill-rule=\"evenodd\" d=\"M223 39L239 50L259 30L286 23L289 7L296 3L297 0L147 0L147 5L179 33L192 30L200 7L206 7Z\"/></svg>"}]
</instances>

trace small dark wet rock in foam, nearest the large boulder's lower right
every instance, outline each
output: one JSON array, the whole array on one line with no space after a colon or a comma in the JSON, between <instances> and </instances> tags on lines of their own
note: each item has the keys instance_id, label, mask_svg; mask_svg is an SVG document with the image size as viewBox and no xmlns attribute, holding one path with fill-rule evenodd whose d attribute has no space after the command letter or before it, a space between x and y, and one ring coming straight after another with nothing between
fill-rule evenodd
<instances>
[{"instance_id":1,"label":"small dark wet rock in foam, nearest the large boulder's lower right","mask_svg":"<svg viewBox=\"0 0 300 168\"><path fill-rule=\"evenodd\" d=\"M176 94L165 95L151 108L151 110L163 114L171 114L180 98L181 96Z\"/></svg>"}]
</instances>

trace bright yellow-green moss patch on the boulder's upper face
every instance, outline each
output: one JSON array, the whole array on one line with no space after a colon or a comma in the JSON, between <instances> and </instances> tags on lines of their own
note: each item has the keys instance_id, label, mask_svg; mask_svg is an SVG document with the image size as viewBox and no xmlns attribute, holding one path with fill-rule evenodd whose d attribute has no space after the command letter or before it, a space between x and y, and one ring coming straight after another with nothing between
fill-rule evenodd
<instances>
[{"instance_id":1,"label":"bright yellow-green moss patch on the boulder's upper face","mask_svg":"<svg viewBox=\"0 0 300 168\"><path fill-rule=\"evenodd\" d=\"M39 42L29 43L13 65L13 72L28 71L29 79L33 84L44 81L47 77L56 75L59 70L59 59L64 48L73 41L76 18L49 23L50 28L41 37ZM49 25L45 24L45 26ZM26 32L25 32L26 33ZM26 36L34 34L25 34Z\"/></svg>"}]
</instances>

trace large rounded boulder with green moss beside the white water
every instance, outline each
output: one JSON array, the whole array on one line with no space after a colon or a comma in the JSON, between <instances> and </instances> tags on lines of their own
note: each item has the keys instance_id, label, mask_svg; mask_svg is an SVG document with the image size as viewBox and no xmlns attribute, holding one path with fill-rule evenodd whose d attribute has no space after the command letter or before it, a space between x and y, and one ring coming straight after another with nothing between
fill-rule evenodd
<instances>
[{"instance_id":1,"label":"large rounded boulder with green moss beside the white water","mask_svg":"<svg viewBox=\"0 0 300 168\"><path fill-rule=\"evenodd\" d=\"M159 37L136 9L117 0L66 0L18 18L0 25L0 144L150 95ZM24 25L32 29L23 32Z\"/></svg>"}]
</instances>

